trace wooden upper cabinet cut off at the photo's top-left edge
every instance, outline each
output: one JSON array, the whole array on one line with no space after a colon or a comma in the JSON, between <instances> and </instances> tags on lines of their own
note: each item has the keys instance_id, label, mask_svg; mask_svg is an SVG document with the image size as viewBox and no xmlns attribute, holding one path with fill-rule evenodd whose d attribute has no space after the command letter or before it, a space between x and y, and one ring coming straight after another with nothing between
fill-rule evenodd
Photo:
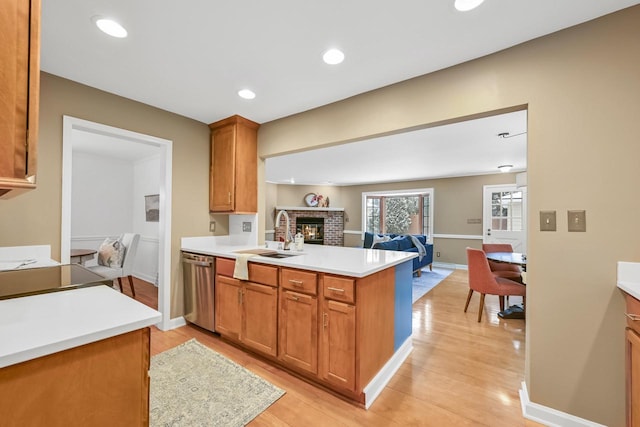
<instances>
[{"instance_id":1,"label":"wooden upper cabinet cut off at the photo's top-left edge","mask_svg":"<svg viewBox=\"0 0 640 427\"><path fill-rule=\"evenodd\" d=\"M0 197L35 188L40 0L0 6Z\"/></svg>"}]
</instances>

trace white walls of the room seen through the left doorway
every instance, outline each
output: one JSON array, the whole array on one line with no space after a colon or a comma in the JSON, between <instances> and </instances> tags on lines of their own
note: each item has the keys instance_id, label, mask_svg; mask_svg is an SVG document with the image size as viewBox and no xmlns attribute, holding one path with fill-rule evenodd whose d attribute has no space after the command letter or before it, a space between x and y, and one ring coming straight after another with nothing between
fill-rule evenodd
<instances>
[{"instance_id":1,"label":"white walls of the room seen through the left doorway","mask_svg":"<svg viewBox=\"0 0 640 427\"><path fill-rule=\"evenodd\" d=\"M138 233L133 275L157 284L158 223L145 221L144 196L159 192L159 157L133 162L74 151L72 162L71 248L97 250L106 237Z\"/></svg>"}]
</instances>

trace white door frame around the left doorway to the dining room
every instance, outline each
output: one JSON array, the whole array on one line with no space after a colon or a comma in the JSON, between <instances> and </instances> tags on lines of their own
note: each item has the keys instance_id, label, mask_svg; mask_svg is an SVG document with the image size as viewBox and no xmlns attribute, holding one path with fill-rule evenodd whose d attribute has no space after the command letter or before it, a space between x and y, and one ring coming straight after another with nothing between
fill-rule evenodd
<instances>
[{"instance_id":1,"label":"white door frame around the left doorway to the dining room","mask_svg":"<svg viewBox=\"0 0 640 427\"><path fill-rule=\"evenodd\" d=\"M62 126L62 221L60 262L70 262L71 251L71 181L74 130L97 133L118 139L151 145L160 150L160 221L158 223L158 311L162 314L156 326L171 329L171 179L173 141L132 132L71 116L63 116Z\"/></svg>"}]
</instances>

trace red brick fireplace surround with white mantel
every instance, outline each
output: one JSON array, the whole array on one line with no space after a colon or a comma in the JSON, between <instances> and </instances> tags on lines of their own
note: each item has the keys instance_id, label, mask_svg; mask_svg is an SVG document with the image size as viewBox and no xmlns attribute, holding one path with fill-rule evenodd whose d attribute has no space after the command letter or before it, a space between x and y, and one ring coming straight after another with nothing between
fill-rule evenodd
<instances>
[{"instance_id":1,"label":"red brick fireplace surround with white mantel","mask_svg":"<svg viewBox=\"0 0 640 427\"><path fill-rule=\"evenodd\" d=\"M276 206L273 216L280 210L286 210L291 220L291 235L296 234L296 220L298 217L304 218L324 218L324 245L344 246L344 209L342 208L300 208L300 207L278 207ZM280 224L275 224L274 240L284 239L284 228L286 220L280 219Z\"/></svg>"}]
</instances>

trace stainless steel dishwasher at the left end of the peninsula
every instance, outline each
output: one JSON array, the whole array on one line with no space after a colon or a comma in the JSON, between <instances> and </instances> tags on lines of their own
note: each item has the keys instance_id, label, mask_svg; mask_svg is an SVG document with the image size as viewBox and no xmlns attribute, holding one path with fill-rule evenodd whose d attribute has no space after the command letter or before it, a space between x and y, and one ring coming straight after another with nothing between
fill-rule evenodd
<instances>
[{"instance_id":1,"label":"stainless steel dishwasher at the left end of the peninsula","mask_svg":"<svg viewBox=\"0 0 640 427\"><path fill-rule=\"evenodd\" d=\"M182 252L184 318L215 332L214 257Z\"/></svg>"}]
</instances>

